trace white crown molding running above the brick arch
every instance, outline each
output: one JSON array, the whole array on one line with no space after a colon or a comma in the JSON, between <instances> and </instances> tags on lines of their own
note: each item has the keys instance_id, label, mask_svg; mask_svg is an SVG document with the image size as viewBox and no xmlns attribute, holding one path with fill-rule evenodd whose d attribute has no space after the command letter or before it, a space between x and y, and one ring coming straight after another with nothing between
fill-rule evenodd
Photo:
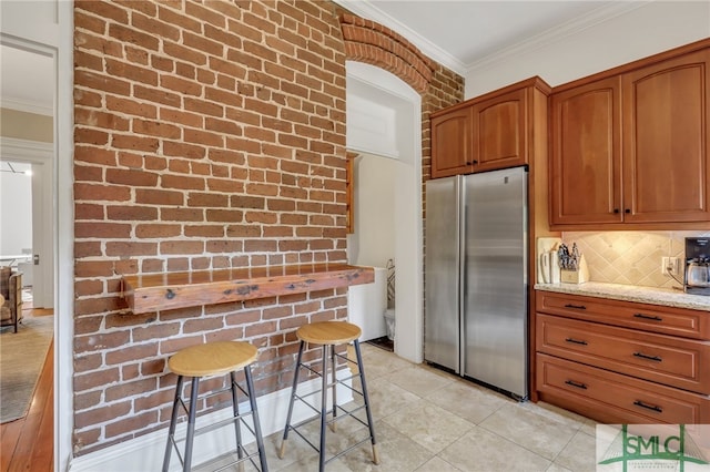
<instances>
[{"instance_id":1,"label":"white crown molding running above the brick arch","mask_svg":"<svg viewBox=\"0 0 710 472\"><path fill-rule=\"evenodd\" d=\"M372 21L389 28L402 34L412 44L416 45L429 59L438 62L439 64L450 69L459 75L466 73L466 64L449 54L432 41L412 30L409 27L403 24L398 20L394 19L389 14L385 13L377 7L373 6L368 0L333 0L341 7L352 11L358 17L366 18Z\"/></svg>"}]
</instances>

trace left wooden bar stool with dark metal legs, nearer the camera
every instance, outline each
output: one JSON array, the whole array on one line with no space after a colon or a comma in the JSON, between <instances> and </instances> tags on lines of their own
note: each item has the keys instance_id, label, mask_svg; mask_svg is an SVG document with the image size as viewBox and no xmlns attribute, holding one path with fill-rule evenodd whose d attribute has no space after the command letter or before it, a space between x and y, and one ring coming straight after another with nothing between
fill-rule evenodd
<instances>
[{"instance_id":1,"label":"left wooden bar stool with dark metal legs, nearer the camera","mask_svg":"<svg viewBox=\"0 0 710 472\"><path fill-rule=\"evenodd\" d=\"M182 349L168 360L168 368L171 372L178 374L178 384L175 387L175 400L173 401L172 418L170 420L170 429L168 432L168 444L165 447L165 456L163 459L163 472L168 472L170 466L170 456L172 450L175 449L178 458L180 459L183 471L191 470L192 464L192 444L195 435L222 428L230 423L234 424L236 434L236 454L237 460L224 465L225 468L233 464L240 464L240 470L244 465L244 461L251 461L254 466L254 458L258 455L261 471L266 472L266 453L264 451L264 441L262 438L261 425L258 422L258 411L256 409L256 397L254 394L254 382L252 380L251 365L256 360L256 348L248 342L242 341L220 341L207 342L204 345L192 346L190 348ZM244 368L244 377L246 380L246 390L236 382L235 371ZM199 388L200 380L205 377L230 374L231 386L230 388L220 389L216 391L203 394L202 398L210 398L227 390L232 391L232 410L231 418L201 427L195 430L195 414L197 411ZM185 406L185 399L181 397L183 380L185 377L192 378L192 388L190 393L190 404ZM237 402L237 389L243 394L248 397L251 410L240 413ZM175 427L178 425L178 411L179 406L183 411L187 413L187 434L183 439L175 439ZM246 417L252 417L253 429L245 421ZM244 445L242 444L242 430L241 424L244 424L256 439L257 451L248 454ZM180 454L180 448L178 443L182 440L185 441L184 456Z\"/></svg>"}]
</instances>

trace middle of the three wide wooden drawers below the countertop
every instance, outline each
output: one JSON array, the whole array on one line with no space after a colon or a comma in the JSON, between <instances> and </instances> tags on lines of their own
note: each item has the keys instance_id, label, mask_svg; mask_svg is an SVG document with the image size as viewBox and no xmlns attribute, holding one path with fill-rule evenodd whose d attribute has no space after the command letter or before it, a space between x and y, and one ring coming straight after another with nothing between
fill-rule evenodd
<instances>
[{"instance_id":1,"label":"middle of the three wide wooden drawers below the countertop","mask_svg":"<svg viewBox=\"0 0 710 472\"><path fill-rule=\"evenodd\" d=\"M544 314L538 314L536 328L540 352L710 393L710 342Z\"/></svg>"}]
</instances>

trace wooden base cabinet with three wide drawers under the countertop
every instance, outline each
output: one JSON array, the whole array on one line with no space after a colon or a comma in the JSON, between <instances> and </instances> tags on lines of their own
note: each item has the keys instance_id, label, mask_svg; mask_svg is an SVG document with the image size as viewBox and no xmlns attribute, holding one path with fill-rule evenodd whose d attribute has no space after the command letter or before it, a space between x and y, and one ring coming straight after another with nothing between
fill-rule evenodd
<instances>
[{"instance_id":1,"label":"wooden base cabinet with three wide drawers under the countertop","mask_svg":"<svg viewBox=\"0 0 710 472\"><path fill-rule=\"evenodd\" d=\"M601 422L710 421L710 312L537 291L539 400Z\"/></svg>"}]
</instances>

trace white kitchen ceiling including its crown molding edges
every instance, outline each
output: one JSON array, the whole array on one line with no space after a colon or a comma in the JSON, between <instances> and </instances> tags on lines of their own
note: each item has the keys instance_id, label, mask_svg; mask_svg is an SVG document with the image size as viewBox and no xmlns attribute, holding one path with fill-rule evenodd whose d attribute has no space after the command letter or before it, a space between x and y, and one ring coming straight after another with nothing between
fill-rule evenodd
<instances>
[{"instance_id":1,"label":"white kitchen ceiling including its crown molding edges","mask_svg":"<svg viewBox=\"0 0 710 472\"><path fill-rule=\"evenodd\" d=\"M465 75L509 49L559 38L647 0L335 0L384 24L426 55Z\"/></svg>"}]
</instances>

